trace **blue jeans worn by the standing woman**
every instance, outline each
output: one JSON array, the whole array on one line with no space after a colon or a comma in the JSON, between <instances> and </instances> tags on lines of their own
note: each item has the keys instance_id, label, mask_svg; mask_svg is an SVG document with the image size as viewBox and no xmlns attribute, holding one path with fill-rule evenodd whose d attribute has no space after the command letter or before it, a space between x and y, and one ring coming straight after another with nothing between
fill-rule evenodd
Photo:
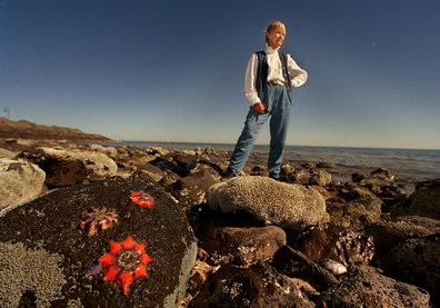
<instances>
[{"instance_id":1,"label":"blue jeans worn by the standing woman","mask_svg":"<svg viewBox=\"0 0 440 308\"><path fill-rule=\"evenodd\" d=\"M269 177L280 177L291 108L289 91L291 90L283 86L268 86L268 90L262 98L262 103L264 103L269 112L260 115L252 107L250 108L244 128L236 143L229 162L229 169L236 176L244 168L260 129L270 119Z\"/></svg>"}]
</instances>

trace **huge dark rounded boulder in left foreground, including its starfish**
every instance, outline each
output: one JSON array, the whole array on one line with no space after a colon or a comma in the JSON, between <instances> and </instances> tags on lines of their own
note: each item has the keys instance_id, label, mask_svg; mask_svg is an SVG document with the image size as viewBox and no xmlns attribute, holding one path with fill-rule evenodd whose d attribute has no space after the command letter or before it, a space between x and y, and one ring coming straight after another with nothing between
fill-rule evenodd
<instances>
[{"instance_id":1,"label":"huge dark rounded boulder in left foreground, including its starfish","mask_svg":"<svg viewBox=\"0 0 440 308\"><path fill-rule=\"evenodd\" d=\"M134 203L138 198L133 195L132 201L131 192L139 190L156 203ZM148 195L144 201L151 200ZM97 232L90 235L91 229ZM127 241L129 236L138 245ZM173 198L153 180L134 173L129 179L61 188L9 211L0 218L0 301L10 302L6 307L19 307L19 301L26 307L40 302L47 307L176 307L186 291L197 244ZM113 266L101 264L103 256L113 258ZM37 257L38 268L29 270ZM148 265L147 272L138 271L140 262ZM46 266L49 272L40 269ZM116 277L110 275L112 267ZM124 295L120 284L133 268L137 276L131 276ZM3 284L9 285L3 288Z\"/></svg>"}]
</instances>

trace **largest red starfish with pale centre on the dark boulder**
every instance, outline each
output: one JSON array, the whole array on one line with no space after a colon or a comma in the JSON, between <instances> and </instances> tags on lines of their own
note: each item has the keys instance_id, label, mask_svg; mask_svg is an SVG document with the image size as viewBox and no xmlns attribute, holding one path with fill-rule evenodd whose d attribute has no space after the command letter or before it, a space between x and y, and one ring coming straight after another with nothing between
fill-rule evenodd
<instances>
[{"instance_id":1,"label":"largest red starfish with pale centre on the dark boulder","mask_svg":"<svg viewBox=\"0 0 440 308\"><path fill-rule=\"evenodd\" d=\"M146 245L138 244L131 236L123 241L109 241L110 252L99 261L103 268L103 280L116 281L122 294L128 295L131 282L136 278L147 278L147 265L152 259L146 254Z\"/></svg>"}]
</instances>

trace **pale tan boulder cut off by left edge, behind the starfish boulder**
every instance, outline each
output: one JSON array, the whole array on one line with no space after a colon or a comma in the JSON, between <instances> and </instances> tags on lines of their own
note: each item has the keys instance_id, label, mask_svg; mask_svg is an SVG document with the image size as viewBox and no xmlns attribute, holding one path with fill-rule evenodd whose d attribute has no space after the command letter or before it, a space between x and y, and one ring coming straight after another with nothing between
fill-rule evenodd
<instances>
[{"instance_id":1,"label":"pale tan boulder cut off by left edge, behind the starfish boulder","mask_svg":"<svg viewBox=\"0 0 440 308\"><path fill-rule=\"evenodd\" d=\"M22 159L0 159L0 212L41 193L44 171Z\"/></svg>"}]
</instances>

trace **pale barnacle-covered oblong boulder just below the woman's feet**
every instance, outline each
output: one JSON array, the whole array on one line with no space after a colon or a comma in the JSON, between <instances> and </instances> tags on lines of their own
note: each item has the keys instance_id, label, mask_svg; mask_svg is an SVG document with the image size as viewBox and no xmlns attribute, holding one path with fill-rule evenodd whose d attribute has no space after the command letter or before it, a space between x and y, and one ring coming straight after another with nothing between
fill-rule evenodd
<instances>
[{"instance_id":1,"label":"pale barnacle-covered oblong boulder just below the woman's feet","mask_svg":"<svg viewBox=\"0 0 440 308\"><path fill-rule=\"evenodd\" d=\"M208 193L208 205L222 212L246 211L287 229L329 221L326 201L317 190L266 177L237 177L217 183Z\"/></svg>"}]
</instances>

